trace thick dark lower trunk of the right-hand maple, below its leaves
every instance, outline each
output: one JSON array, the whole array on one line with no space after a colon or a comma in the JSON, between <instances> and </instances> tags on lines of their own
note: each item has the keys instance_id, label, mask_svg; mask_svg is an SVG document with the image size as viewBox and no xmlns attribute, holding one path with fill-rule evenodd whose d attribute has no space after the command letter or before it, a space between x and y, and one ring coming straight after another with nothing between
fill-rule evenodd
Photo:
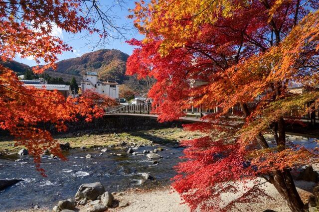
<instances>
[{"instance_id":1,"label":"thick dark lower trunk of the right-hand maple, below its leaves","mask_svg":"<svg viewBox=\"0 0 319 212\"><path fill-rule=\"evenodd\" d=\"M303 212L304 203L297 192L289 170L273 171L271 182L292 212Z\"/></svg>"}]
</instances>

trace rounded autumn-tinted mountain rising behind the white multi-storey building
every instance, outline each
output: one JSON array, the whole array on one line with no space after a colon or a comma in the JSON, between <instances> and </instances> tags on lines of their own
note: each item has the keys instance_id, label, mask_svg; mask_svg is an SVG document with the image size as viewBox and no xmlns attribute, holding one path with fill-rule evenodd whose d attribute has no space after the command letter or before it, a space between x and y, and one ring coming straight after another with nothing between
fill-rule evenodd
<instances>
[{"instance_id":1,"label":"rounded autumn-tinted mountain rising behind the white multi-storey building","mask_svg":"<svg viewBox=\"0 0 319 212\"><path fill-rule=\"evenodd\" d=\"M125 71L128 57L128 54L116 49L101 49L81 57L61 60L56 63L56 71L76 75L97 72L102 81L116 80L121 84L127 79Z\"/></svg>"}]
</instances>

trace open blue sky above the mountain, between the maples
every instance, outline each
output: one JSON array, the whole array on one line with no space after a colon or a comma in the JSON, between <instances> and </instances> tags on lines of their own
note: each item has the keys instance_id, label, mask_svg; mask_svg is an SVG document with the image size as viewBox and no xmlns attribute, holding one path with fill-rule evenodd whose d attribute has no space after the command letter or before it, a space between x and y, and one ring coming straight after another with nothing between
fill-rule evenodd
<instances>
[{"instance_id":1,"label":"open blue sky above the mountain, between the maples","mask_svg":"<svg viewBox=\"0 0 319 212\"><path fill-rule=\"evenodd\" d=\"M103 4L106 2L112 2L112 0L101 0L100 2ZM127 24L128 27L132 28L128 32L129 35L126 35L127 39L131 39L133 37L137 39L142 39L143 36L139 34L136 29L134 29L133 21L131 19L126 18L126 16L130 14L128 9L134 8L134 6L135 6L134 0L127 0L127 3L123 4L122 8L120 6L115 7L113 9L112 14L115 14L116 16L118 16L118 18L115 19L116 24L118 25ZM92 41L96 42L97 40L99 40L97 34L94 34L92 36L86 36L85 38L81 38L83 37L83 34L70 35L68 33L63 32L60 28L57 28L57 27L53 27L52 35L60 37L64 42L66 42L69 46L72 46L73 48L73 52L63 52L63 54L58 57L59 61L63 59L79 57L83 55L84 53L96 51L102 48L118 49L129 55L132 54L132 51L134 49L134 47L125 43L125 39L111 39L111 38L108 39L108 43L104 44L104 46L94 47L92 44ZM27 64L29 66L37 65L35 61L32 60L31 57L27 59L21 59L20 57L17 56L15 60L20 63Z\"/></svg>"}]
</instances>

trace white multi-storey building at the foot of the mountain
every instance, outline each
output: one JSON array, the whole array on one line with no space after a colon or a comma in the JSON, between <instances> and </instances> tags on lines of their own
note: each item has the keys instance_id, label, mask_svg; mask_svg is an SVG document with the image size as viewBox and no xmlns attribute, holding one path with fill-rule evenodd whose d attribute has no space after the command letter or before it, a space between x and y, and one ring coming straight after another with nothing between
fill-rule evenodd
<instances>
[{"instance_id":1,"label":"white multi-storey building at the foot of the mountain","mask_svg":"<svg viewBox=\"0 0 319 212\"><path fill-rule=\"evenodd\" d=\"M87 72L81 82L82 91L92 89L99 94L107 95L113 99L119 99L119 84L115 81L101 82L96 72Z\"/></svg>"}]
</instances>

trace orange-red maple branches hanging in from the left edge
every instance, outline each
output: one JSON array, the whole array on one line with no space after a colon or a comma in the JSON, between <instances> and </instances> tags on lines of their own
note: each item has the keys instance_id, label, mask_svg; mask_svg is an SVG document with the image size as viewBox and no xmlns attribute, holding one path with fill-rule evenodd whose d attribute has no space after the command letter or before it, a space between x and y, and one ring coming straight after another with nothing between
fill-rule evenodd
<instances>
[{"instance_id":1,"label":"orange-red maple branches hanging in from the left edge","mask_svg":"<svg viewBox=\"0 0 319 212\"><path fill-rule=\"evenodd\" d=\"M10 61L16 56L32 57L38 64L34 73L55 68L57 55L72 48L52 35L53 27L67 33L98 33L101 40L119 30L111 18L102 11L98 1L90 0L0 0L0 59ZM102 29L95 28L101 23ZM92 91L79 98L65 99L58 91L24 87L12 70L0 65L0 129L15 137L16 145L23 145L33 156L41 174L40 155L50 150L64 158L50 132L40 123L49 122L58 131L66 130L66 121L79 116L86 121L101 117L104 106L114 103L108 97Z\"/></svg>"}]
</instances>

